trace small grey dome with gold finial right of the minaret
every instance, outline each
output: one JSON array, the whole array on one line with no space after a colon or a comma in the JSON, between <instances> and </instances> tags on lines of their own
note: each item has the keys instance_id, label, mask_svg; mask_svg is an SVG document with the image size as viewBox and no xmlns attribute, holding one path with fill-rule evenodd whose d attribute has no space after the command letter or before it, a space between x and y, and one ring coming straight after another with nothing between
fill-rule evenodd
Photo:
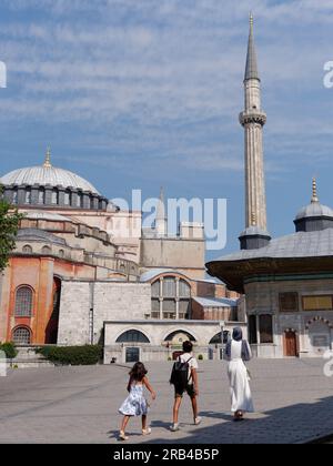
<instances>
[{"instance_id":1,"label":"small grey dome with gold finial right of the minaret","mask_svg":"<svg viewBox=\"0 0 333 466\"><path fill-rule=\"evenodd\" d=\"M333 227L333 210L320 203L315 178L312 180L311 203L299 211L294 223L296 232L320 231Z\"/></svg>"}]
</instances>

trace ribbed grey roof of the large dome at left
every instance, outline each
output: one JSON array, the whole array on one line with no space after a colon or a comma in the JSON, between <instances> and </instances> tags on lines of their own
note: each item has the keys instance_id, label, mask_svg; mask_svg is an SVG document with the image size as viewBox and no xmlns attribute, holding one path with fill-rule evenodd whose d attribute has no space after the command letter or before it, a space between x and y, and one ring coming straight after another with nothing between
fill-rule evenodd
<instances>
[{"instance_id":1,"label":"ribbed grey roof of the large dome at left","mask_svg":"<svg viewBox=\"0 0 333 466\"><path fill-rule=\"evenodd\" d=\"M14 170L0 179L3 185L34 185L63 186L89 191L99 194L97 189L83 178L68 170L56 166L32 166Z\"/></svg>"}]
</instances>

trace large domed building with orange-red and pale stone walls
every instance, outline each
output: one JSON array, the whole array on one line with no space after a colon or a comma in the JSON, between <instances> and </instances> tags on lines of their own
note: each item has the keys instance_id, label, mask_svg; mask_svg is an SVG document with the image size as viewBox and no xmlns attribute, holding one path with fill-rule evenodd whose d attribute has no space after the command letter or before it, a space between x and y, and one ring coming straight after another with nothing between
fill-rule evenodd
<instances>
[{"instance_id":1,"label":"large domed building with orange-red and pale stone walls","mask_svg":"<svg viewBox=\"0 0 333 466\"><path fill-rule=\"evenodd\" d=\"M205 278L203 225L182 223L168 234L163 193L147 230L142 212L119 209L87 180L54 168L50 151L41 166L0 183L24 214L0 275L0 341L100 343L110 362L165 359L190 338L204 357L221 356L239 295Z\"/></svg>"}]
</instances>

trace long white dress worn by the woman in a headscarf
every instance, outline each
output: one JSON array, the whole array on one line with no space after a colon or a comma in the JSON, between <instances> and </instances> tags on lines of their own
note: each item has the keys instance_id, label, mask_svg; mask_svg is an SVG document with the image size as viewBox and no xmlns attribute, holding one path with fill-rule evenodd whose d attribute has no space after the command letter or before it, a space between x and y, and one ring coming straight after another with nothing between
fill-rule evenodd
<instances>
[{"instance_id":1,"label":"long white dress worn by the woman in a headscarf","mask_svg":"<svg viewBox=\"0 0 333 466\"><path fill-rule=\"evenodd\" d=\"M251 350L249 346L251 355ZM231 357L228 365L231 393L231 412L243 411L253 413L253 402L249 384L246 366L242 359L242 342L232 341Z\"/></svg>"}]
</instances>

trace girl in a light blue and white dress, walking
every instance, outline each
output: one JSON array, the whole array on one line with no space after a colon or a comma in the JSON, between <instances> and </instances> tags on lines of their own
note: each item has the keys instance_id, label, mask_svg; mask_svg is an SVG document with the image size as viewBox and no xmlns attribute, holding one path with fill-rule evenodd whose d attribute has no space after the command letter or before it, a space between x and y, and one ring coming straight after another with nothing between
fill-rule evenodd
<instances>
[{"instance_id":1,"label":"girl in a light blue and white dress, walking","mask_svg":"<svg viewBox=\"0 0 333 466\"><path fill-rule=\"evenodd\" d=\"M125 428L131 417L141 416L142 417L142 435L150 435L151 428L147 426L147 415L149 404L144 397L143 389L144 387L151 393L151 397L154 401L157 394L153 391L147 378L148 371L145 369L142 363L134 364L132 371L130 372L130 381L128 385L128 392L130 395L123 402L119 408L119 413L123 415L120 435L121 440L128 440L129 437L125 435Z\"/></svg>"}]
</instances>

